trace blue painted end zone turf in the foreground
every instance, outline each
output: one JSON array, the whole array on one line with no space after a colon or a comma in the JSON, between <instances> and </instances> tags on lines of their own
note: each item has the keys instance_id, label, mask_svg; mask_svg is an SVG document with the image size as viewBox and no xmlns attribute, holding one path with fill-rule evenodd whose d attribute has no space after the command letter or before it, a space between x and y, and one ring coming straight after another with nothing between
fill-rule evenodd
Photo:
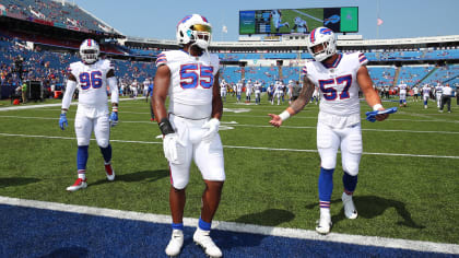
<instances>
[{"instance_id":1,"label":"blue painted end zone turf in the foreground","mask_svg":"<svg viewBox=\"0 0 459 258\"><path fill-rule=\"evenodd\" d=\"M185 227L179 257L204 257ZM170 225L0 204L0 257L166 257ZM224 257L459 257L212 231Z\"/></svg>"}]
</instances>

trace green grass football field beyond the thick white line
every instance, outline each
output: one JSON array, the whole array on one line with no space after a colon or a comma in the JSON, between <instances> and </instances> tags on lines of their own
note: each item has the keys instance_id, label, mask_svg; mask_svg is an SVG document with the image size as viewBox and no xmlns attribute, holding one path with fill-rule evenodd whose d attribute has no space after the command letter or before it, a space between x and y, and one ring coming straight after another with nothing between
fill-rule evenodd
<instances>
[{"instance_id":1,"label":"green grass football field beyond the thick white line","mask_svg":"<svg viewBox=\"0 0 459 258\"><path fill-rule=\"evenodd\" d=\"M454 101L451 114L439 114L434 102L427 109L422 102L409 102L386 121L362 121L364 154L354 197L360 216L344 218L338 162L332 232L459 243L459 107ZM61 131L59 106L4 110L9 105L0 104L0 196L169 214L168 165L145 99L120 103L120 122L110 137L115 181L106 180L103 157L92 141L89 187L76 192L66 191L76 178L76 107L70 107L70 125ZM318 106L309 104L282 128L271 127L267 114L286 106L272 106L266 96L258 106L236 104L228 96L220 131L226 183L215 220L315 228ZM362 103L362 117L367 110ZM199 218L203 188L192 166L185 216Z\"/></svg>"}]
</instances>

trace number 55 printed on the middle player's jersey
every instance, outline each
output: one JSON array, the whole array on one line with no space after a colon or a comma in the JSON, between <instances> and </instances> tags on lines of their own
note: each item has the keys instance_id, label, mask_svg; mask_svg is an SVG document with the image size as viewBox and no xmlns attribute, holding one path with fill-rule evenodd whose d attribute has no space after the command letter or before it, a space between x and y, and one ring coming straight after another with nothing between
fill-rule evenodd
<instances>
[{"instance_id":1,"label":"number 55 printed on the middle player's jersey","mask_svg":"<svg viewBox=\"0 0 459 258\"><path fill-rule=\"evenodd\" d=\"M196 63L183 64L180 67L180 86L183 89L195 89L202 86L210 89L213 85L213 67L198 66Z\"/></svg>"}]
</instances>

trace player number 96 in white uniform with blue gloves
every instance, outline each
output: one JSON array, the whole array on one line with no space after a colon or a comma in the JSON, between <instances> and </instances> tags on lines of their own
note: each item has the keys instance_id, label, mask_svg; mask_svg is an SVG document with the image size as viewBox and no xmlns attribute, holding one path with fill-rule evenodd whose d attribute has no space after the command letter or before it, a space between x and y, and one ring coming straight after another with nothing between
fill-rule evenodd
<instances>
[{"instance_id":1,"label":"player number 96 in white uniform with blue gloves","mask_svg":"<svg viewBox=\"0 0 459 258\"><path fill-rule=\"evenodd\" d=\"M80 46L82 61L70 63L66 93L62 98L62 112L59 126L62 130L69 124L67 112L75 89L79 89L79 103L75 116L75 133L78 142L76 167L78 179L68 191L87 187L86 163L87 148L94 131L97 145L105 161L105 173L108 180L115 179L111 167L110 127L118 122L118 85L114 66L109 60L98 59L101 50L94 39L85 39ZM107 85L111 94L111 115L108 115Z\"/></svg>"}]
</instances>

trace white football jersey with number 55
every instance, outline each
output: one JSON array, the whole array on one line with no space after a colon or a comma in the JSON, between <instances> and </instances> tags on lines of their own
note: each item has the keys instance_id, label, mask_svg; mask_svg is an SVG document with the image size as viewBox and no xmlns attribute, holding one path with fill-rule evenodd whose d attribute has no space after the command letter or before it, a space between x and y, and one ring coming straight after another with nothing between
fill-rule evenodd
<instances>
[{"instance_id":1,"label":"white football jersey with number 55","mask_svg":"<svg viewBox=\"0 0 459 258\"><path fill-rule=\"evenodd\" d=\"M209 118L212 113L213 82L220 59L215 54L193 57L185 50L163 51L156 67L170 70L168 112L185 118Z\"/></svg>"}]
</instances>

